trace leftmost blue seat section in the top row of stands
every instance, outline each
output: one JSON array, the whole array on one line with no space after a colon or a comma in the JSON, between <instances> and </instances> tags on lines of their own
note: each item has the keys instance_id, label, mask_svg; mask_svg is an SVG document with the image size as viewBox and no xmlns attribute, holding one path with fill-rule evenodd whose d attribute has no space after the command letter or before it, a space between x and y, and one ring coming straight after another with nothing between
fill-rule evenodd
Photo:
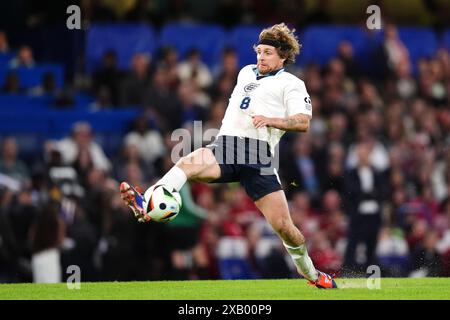
<instances>
[{"instance_id":1,"label":"leftmost blue seat section in the top row of stands","mask_svg":"<svg viewBox=\"0 0 450 320\"><path fill-rule=\"evenodd\" d=\"M101 64L103 54L114 50L118 66L130 68L131 58L136 53L154 55L158 41L153 28L144 24L94 24L86 37L86 69L91 73Z\"/></svg>"}]
</instances>

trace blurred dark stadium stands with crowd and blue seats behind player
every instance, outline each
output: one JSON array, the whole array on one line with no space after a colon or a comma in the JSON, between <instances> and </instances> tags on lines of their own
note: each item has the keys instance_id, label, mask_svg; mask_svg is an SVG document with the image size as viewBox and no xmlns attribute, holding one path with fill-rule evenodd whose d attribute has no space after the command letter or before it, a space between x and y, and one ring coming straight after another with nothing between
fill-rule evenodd
<instances>
[{"instance_id":1,"label":"blurred dark stadium stands with crowd and blue seats behind player","mask_svg":"<svg viewBox=\"0 0 450 320\"><path fill-rule=\"evenodd\" d=\"M81 30L66 27L72 4ZM371 4L382 30L366 27ZM169 224L137 223L118 194L170 168L174 129L220 126L259 31L279 22L297 29L287 70L314 110L308 134L283 137L280 174L316 267L449 276L449 12L446 0L2 1L0 282L64 281L72 265L82 281L298 277L239 185L190 184ZM355 170L365 156L372 190ZM365 200L379 212L361 214Z\"/></svg>"}]
</instances>

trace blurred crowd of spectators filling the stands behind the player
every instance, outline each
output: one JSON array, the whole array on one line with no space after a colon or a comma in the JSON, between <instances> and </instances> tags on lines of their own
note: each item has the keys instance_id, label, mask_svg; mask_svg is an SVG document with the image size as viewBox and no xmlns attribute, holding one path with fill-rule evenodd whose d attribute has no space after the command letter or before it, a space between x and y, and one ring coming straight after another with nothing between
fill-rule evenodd
<instances>
[{"instance_id":1,"label":"blurred crowd of spectators filling the stands behind the player","mask_svg":"<svg viewBox=\"0 0 450 320\"><path fill-rule=\"evenodd\" d=\"M450 55L414 65L392 25L377 50L376 77L348 42L324 67L287 67L313 105L309 133L286 133L279 146L292 219L322 271L450 276ZM85 122L32 163L3 137L0 282L62 281L70 265L83 281L297 277L239 184L188 183L168 224L138 223L118 194L118 182L145 190L173 165L174 129L220 127L238 66L233 48L213 68L198 50L180 60L164 48L123 72L109 51L89 78L91 107L142 108L117 154Z\"/></svg>"}]
</instances>

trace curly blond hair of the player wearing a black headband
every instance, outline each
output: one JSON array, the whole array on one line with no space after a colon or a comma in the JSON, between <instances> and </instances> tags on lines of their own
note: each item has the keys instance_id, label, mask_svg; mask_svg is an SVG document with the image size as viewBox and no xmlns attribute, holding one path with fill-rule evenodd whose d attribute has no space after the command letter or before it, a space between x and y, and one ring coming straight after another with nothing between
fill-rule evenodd
<instances>
[{"instance_id":1,"label":"curly blond hair of the player wearing a black headband","mask_svg":"<svg viewBox=\"0 0 450 320\"><path fill-rule=\"evenodd\" d=\"M294 32L294 28L289 29L286 24L279 23L270 28L263 29L259 34L259 41L272 40L278 42L280 46L276 47L276 49L278 55L282 59L286 59L284 64L294 63L295 56L300 53L300 48L302 47Z\"/></svg>"}]
</instances>

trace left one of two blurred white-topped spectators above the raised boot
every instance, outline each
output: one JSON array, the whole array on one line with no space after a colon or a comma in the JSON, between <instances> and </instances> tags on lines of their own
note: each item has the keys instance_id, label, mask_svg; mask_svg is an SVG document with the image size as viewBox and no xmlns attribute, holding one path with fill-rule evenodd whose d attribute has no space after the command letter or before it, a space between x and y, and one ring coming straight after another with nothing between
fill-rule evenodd
<instances>
[{"instance_id":1,"label":"left one of two blurred white-topped spectators above the raised boot","mask_svg":"<svg viewBox=\"0 0 450 320\"><path fill-rule=\"evenodd\" d=\"M105 172L111 169L111 163L102 147L93 140L92 128L87 122L76 122L73 125L72 135L56 142L55 147L60 151L65 164L75 163L80 151L86 149L92 158L94 168Z\"/></svg>"}]
</instances>

